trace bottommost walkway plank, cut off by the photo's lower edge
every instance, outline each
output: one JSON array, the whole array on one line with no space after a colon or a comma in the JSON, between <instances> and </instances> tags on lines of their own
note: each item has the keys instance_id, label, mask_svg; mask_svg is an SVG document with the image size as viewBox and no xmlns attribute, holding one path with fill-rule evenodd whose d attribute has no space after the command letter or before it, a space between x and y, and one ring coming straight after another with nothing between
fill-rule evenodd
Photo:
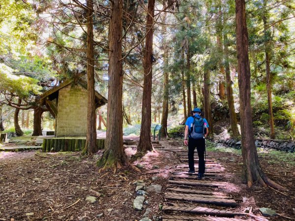
<instances>
[{"instance_id":1,"label":"bottommost walkway plank, cut off by the photo's lower edge","mask_svg":"<svg viewBox=\"0 0 295 221\"><path fill-rule=\"evenodd\" d=\"M176 215L162 215L162 221L251 221L235 218L221 218L221 217L189 217L189 216L176 216Z\"/></svg>"}]
</instances>

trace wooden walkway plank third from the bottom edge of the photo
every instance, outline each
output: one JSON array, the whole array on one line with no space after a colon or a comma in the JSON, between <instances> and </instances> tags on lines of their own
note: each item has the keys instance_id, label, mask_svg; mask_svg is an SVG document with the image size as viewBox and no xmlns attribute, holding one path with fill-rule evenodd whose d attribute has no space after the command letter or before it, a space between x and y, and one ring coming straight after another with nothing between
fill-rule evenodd
<instances>
[{"instance_id":1,"label":"wooden walkway plank third from the bottom edge of the photo","mask_svg":"<svg viewBox=\"0 0 295 221\"><path fill-rule=\"evenodd\" d=\"M188 194L188 193L165 193L166 199L184 200L198 203L213 204L217 206L236 207L234 199L216 198L213 195L204 196L201 194Z\"/></svg>"}]
</instances>

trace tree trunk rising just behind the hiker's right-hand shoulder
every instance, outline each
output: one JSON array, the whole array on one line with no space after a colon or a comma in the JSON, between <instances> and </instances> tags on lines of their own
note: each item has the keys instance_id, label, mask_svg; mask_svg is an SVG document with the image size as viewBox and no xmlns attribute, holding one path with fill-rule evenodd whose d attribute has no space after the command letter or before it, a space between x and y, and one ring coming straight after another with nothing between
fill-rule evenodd
<instances>
[{"instance_id":1,"label":"tree trunk rising just behind the hiker's right-hand shoulder","mask_svg":"<svg viewBox=\"0 0 295 221\"><path fill-rule=\"evenodd\" d=\"M208 21L206 21L206 24ZM209 36L207 34L206 37L206 46L205 48L208 49L209 47ZM212 119L212 112L211 112L211 104L210 104L210 70L207 64L204 65L204 109L205 109L205 118L209 124L209 132L210 134L213 133L213 119Z\"/></svg>"}]
</instances>

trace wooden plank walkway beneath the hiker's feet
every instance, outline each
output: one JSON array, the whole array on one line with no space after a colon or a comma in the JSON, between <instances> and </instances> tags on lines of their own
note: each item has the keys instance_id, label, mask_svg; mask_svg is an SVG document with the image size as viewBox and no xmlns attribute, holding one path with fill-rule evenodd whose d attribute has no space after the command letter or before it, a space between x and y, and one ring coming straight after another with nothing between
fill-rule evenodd
<instances>
[{"instance_id":1,"label":"wooden plank walkway beneath the hiker's feet","mask_svg":"<svg viewBox=\"0 0 295 221\"><path fill-rule=\"evenodd\" d=\"M187 150L167 148L164 150L172 151L177 154L180 161L188 162ZM219 181L223 179L224 167L214 158L206 156L205 179L200 180L197 176L199 162L197 153L194 155L194 161L196 173L188 173L189 168L186 163L177 165L175 170L170 173L170 180L164 193L166 202L162 208L163 221L250 221L232 218L244 216L245 213L225 209L226 207L236 207L235 199L227 193L214 190L214 188L223 189L229 184ZM207 191L206 188L211 191ZM198 206L198 204L214 205L214 208ZM216 209L218 206L222 208ZM186 216L183 212L198 214L198 216Z\"/></svg>"}]
</instances>

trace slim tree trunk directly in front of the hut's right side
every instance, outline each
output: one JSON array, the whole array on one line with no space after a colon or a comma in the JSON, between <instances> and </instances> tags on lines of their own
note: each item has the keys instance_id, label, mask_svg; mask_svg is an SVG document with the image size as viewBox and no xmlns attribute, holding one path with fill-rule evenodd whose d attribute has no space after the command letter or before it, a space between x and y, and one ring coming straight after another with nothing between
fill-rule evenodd
<instances>
[{"instance_id":1,"label":"slim tree trunk directly in front of the hut's right side","mask_svg":"<svg viewBox=\"0 0 295 221\"><path fill-rule=\"evenodd\" d=\"M95 114L95 79L94 79L94 42L93 42L93 1L87 0L87 134L85 150L89 154L97 152L96 114Z\"/></svg>"}]
</instances>

